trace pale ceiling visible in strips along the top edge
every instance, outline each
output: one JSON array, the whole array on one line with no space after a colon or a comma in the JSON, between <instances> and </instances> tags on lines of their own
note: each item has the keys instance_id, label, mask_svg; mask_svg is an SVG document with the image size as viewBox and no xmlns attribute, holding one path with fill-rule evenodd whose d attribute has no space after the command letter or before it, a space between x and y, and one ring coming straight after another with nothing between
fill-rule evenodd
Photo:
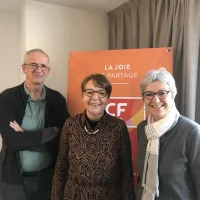
<instances>
[{"instance_id":1,"label":"pale ceiling visible in strips along the top edge","mask_svg":"<svg viewBox=\"0 0 200 200\"><path fill-rule=\"evenodd\" d=\"M61 6L108 12L128 0L34 0ZM24 0L0 0L1 12L19 12Z\"/></svg>"}]
</instances>

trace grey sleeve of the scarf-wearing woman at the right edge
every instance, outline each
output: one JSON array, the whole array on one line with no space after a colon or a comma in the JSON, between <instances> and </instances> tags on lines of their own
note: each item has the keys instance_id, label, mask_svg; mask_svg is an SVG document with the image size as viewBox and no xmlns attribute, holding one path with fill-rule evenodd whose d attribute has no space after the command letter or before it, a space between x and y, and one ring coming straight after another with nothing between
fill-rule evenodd
<instances>
[{"instance_id":1,"label":"grey sleeve of the scarf-wearing woman at the right edge","mask_svg":"<svg viewBox=\"0 0 200 200\"><path fill-rule=\"evenodd\" d=\"M191 136L189 149L189 167L197 200L200 200L200 127Z\"/></svg>"}]
</instances>

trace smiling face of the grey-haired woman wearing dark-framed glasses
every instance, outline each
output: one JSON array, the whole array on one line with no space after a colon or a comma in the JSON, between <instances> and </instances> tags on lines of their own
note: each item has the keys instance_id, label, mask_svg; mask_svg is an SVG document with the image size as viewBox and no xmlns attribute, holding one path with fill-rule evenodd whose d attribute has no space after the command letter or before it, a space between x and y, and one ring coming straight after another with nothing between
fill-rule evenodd
<instances>
[{"instance_id":1,"label":"smiling face of the grey-haired woman wearing dark-framed glasses","mask_svg":"<svg viewBox=\"0 0 200 200\"><path fill-rule=\"evenodd\" d=\"M152 92L158 93L154 95ZM143 100L147 112L153 116L155 121L162 119L174 103L169 87L160 82L150 83L145 88Z\"/></svg>"}]
</instances>

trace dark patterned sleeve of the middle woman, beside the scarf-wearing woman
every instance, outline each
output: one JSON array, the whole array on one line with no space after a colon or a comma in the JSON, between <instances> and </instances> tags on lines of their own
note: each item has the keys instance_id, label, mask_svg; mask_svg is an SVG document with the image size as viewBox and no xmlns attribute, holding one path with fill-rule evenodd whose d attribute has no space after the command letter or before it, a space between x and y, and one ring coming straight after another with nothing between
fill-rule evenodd
<instances>
[{"instance_id":1,"label":"dark patterned sleeve of the middle woman, beside the scarf-wearing woman","mask_svg":"<svg viewBox=\"0 0 200 200\"><path fill-rule=\"evenodd\" d=\"M134 184L133 184L133 168L132 168L132 154L131 143L126 124L121 128L121 165L122 165L122 188L123 200L133 200Z\"/></svg>"}]
</instances>

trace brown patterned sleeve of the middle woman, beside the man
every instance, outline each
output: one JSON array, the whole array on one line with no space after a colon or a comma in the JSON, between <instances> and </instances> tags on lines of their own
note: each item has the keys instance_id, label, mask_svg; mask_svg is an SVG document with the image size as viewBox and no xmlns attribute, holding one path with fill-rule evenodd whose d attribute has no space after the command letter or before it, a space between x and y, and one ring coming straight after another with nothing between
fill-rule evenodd
<instances>
[{"instance_id":1,"label":"brown patterned sleeve of the middle woman, beside the man","mask_svg":"<svg viewBox=\"0 0 200 200\"><path fill-rule=\"evenodd\" d=\"M68 127L70 127L69 121L66 121L59 144L59 153L57 157L56 167L54 171L54 177L52 181L52 194L51 200L63 200L64 187L68 176L68 152L69 152L69 133Z\"/></svg>"}]
</instances>

